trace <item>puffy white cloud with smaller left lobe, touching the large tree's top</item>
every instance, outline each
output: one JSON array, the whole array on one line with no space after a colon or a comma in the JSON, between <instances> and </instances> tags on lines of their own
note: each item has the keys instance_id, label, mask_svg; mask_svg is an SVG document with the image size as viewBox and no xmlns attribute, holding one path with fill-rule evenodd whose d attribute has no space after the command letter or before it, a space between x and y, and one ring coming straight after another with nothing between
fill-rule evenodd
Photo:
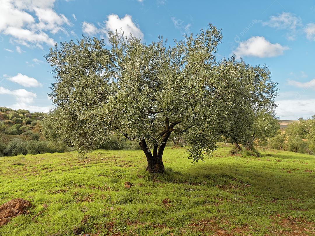
<instances>
[{"instance_id":1,"label":"puffy white cloud with smaller left lobe, touching the large tree's top","mask_svg":"<svg viewBox=\"0 0 315 236\"><path fill-rule=\"evenodd\" d=\"M130 36L130 34L132 34L136 38L140 38L141 40L144 39L144 34L128 14L123 18L119 18L116 14L108 15L107 20L104 21L104 25L100 25L99 27L86 21L82 23L82 31L88 35L103 33L107 35L108 31L115 32L116 30L120 31L120 29L124 32L125 36Z\"/></svg>"}]
</instances>

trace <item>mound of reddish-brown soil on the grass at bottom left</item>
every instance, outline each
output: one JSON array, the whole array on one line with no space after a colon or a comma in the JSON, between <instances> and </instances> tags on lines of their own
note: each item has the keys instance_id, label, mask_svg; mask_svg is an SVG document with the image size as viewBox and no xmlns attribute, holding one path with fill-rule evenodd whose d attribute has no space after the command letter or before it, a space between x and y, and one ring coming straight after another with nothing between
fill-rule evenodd
<instances>
[{"instance_id":1,"label":"mound of reddish-brown soil on the grass at bottom left","mask_svg":"<svg viewBox=\"0 0 315 236\"><path fill-rule=\"evenodd\" d=\"M19 216L31 207L31 203L22 198L16 198L0 206L0 226L7 224L12 217Z\"/></svg>"}]
</instances>

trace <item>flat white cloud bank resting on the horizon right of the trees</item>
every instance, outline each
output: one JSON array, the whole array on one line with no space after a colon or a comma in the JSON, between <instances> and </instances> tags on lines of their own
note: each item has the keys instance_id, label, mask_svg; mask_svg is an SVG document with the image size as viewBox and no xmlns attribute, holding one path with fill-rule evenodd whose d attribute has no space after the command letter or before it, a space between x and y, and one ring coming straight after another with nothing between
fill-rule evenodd
<instances>
[{"instance_id":1,"label":"flat white cloud bank resting on the horizon right of the trees","mask_svg":"<svg viewBox=\"0 0 315 236\"><path fill-rule=\"evenodd\" d=\"M281 119L297 120L300 117L310 117L315 114L315 99L287 99L277 101L277 116Z\"/></svg>"}]
</instances>

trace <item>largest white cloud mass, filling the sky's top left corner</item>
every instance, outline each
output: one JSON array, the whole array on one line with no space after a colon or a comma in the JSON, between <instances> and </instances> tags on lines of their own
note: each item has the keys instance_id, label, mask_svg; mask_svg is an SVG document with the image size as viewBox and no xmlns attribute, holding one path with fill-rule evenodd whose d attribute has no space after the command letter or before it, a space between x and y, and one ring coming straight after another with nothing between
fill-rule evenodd
<instances>
[{"instance_id":1,"label":"largest white cloud mass, filling the sky's top left corner","mask_svg":"<svg viewBox=\"0 0 315 236\"><path fill-rule=\"evenodd\" d=\"M53 46L55 41L47 33L66 33L64 25L71 25L65 15L54 11L54 2L0 0L0 33L27 47L42 48L44 43Z\"/></svg>"}]
</instances>

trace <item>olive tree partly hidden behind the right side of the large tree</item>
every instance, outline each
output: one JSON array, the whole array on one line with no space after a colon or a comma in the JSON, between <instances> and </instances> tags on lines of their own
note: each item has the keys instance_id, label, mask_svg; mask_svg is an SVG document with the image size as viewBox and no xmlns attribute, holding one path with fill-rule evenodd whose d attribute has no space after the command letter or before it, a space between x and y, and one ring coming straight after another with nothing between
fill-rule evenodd
<instances>
[{"instance_id":1,"label":"olive tree partly hidden behind the right side of the large tree","mask_svg":"<svg viewBox=\"0 0 315 236\"><path fill-rule=\"evenodd\" d=\"M227 77L232 106L222 123L222 135L240 151L242 144L253 149L255 140L266 143L279 129L274 114L277 83L266 66L251 66L234 57L219 64L221 77ZM232 72L232 73L231 73Z\"/></svg>"}]
</instances>

